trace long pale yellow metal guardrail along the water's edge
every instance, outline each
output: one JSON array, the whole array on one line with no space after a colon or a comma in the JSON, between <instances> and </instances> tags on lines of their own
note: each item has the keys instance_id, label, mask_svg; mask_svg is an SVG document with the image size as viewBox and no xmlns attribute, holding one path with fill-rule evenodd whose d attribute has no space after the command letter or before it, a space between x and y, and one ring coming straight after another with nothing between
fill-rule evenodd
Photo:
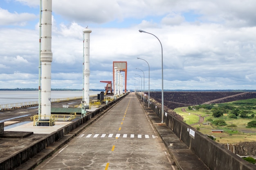
<instances>
[{"instance_id":1,"label":"long pale yellow metal guardrail along the water's edge","mask_svg":"<svg viewBox=\"0 0 256 170\"><path fill-rule=\"evenodd\" d=\"M57 102L65 102L75 99L82 99L82 96L78 97L65 97L60 99L51 99L51 103ZM13 104L0 104L0 110L11 110L16 108L24 108L24 107L31 107L31 106L38 106L38 101L35 102L20 102L20 103L13 103Z\"/></svg>"}]
</instances>

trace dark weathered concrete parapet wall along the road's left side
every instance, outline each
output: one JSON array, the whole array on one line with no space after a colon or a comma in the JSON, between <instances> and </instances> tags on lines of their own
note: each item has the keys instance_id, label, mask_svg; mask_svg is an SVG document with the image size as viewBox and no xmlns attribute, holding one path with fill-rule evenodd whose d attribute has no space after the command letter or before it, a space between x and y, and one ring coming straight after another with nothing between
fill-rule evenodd
<instances>
[{"instance_id":1,"label":"dark weathered concrete parapet wall along the road's left side","mask_svg":"<svg viewBox=\"0 0 256 170\"><path fill-rule=\"evenodd\" d=\"M82 124L85 124L86 121L92 119L97 114L99 114L99 113L103 114L104 110L107 110L109 107L111 107L113 104L119 102L124 97L125 97L125 95L123 97L117 98L116 100L114 100L112 102L109 102L108 105L103 106L103 107L89 113L88 115L86 115L86 117L73 120L72 123L68 124L67 126L64 126L62 129L59 129L56 132L46 135L42 139L38 139L33 144L23 148L19 152L13 153L13 155L6 157L6 159L4 159L4 161L0 162L0 170L12 170L12 169L20 166L22 163L25 163L26 161L28 161L29 159L31 159L32 157L34 157L35 155L40 153L42 150L45 150L45 148L47 148L47 146L54 144L54 142L62 139L63 137L65 137L65 135L69 134L77 127L81 126ZM83 130L83 129L81 129L81 130ZM81 131L79 131L79 132L81 132ZM78 134L79 132L76 132L76 133ZM67 140L66 143L70 140L71 139ZM63 143L63 145L66 143ZM55 152L55 151L56 150L54 150L53 152ZM51 155L53 154L53 152L51 153Z\"/></svg>"}]
</instances>

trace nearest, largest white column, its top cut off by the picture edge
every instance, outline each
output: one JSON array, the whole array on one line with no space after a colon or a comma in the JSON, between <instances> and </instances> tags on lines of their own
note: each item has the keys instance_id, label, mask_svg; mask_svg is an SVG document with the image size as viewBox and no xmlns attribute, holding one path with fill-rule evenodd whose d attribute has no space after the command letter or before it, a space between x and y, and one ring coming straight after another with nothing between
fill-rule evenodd
<instances>
[{"instance_id":1,"label":"nearest, largest white column, its top cut off by the picture edge","mask_svg":"<svg viewBox=\"0 0 256 170\"><path fill-rule=\"evenodd\" d=\"M41 35L41 120L49 120L51 116L52 0L43 0L42 2Z\"/></svg>"}]
</instances>

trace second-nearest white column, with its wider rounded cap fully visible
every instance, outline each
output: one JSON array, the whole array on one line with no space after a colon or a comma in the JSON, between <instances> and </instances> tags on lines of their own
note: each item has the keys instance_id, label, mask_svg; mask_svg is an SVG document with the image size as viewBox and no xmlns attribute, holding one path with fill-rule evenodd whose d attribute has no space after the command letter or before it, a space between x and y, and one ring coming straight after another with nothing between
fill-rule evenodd
<instances>
[{"instance_id":1,"label":"second-nearest white column, with its wider rounded cap fully visible","mask_svg":"<svg viewBox=\"0 0 256 170\"><path fill-rule=\"evenodd\" d=\"M90 104L90 88L89 88L89 84L90 84L90 33L92 32L92 30L85 28L83 29L83 33L84 33L84 56L83 56L83 106L85 108L89 108L89 104ZM82 106L82 109L83 109Z\"/></svg>"}]
</instances>

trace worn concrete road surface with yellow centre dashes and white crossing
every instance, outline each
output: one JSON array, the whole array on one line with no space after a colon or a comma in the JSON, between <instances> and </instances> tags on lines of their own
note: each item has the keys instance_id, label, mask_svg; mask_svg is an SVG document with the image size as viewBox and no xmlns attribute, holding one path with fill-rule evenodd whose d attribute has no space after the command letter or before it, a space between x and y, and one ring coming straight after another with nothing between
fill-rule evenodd
<instances>
[{"instance_id":1,"label":"worn concrete road surface with yellow centre dashes and white crossing","mask_svg":"<svg viewBox=\"0 0 256 170\"><path fill-rule=\"evenodd\" d=\"M135 93L34 170L177 170Z\"/></svg>"}]
</instances>

